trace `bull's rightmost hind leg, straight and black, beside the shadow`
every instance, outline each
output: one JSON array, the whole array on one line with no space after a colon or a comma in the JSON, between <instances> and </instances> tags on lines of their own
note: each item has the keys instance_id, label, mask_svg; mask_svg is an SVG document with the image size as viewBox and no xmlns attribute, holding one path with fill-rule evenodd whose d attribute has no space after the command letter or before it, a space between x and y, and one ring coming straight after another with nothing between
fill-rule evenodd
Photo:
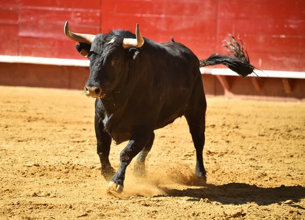
<instances>
[{"instance_id":1,"label":"bull's rightmost hind leg, straight and black, beside the shadow","mask_svg":"<svg viewBox=\"0 0 305 220\"><path fill-rule=\"evenodd\" d=\"M185 117L188 121L190 133L196 149L195 174L199 177L199 180L204 183L206 182L206 172L203 165L202 153L205 141L205 111L206 99L200 77L194 86Z\"/></svg>"}]
</instances>

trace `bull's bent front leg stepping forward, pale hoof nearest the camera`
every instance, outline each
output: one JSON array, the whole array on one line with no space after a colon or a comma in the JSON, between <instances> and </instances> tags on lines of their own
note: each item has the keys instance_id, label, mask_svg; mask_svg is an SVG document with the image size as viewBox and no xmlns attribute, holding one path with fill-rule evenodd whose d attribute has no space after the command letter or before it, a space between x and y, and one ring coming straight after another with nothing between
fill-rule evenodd
<instances>
[{"instance_id":1,"label":"bull's bent front leg stepping forward, pale hoof nearest the camera","mask_svg":"<svg viewBox=\"0 0 305 220\"><path fill-rule=\"evenodd\" d=\"M120 165L118 171L115 173L108 185L109 190L116 191L116 193L121 193L123 191L127 166L131 160L144 148L153 134L153 129L148 129L145 127L135 130L128 145L120 153Z\"/></svg>"}]
</instances>

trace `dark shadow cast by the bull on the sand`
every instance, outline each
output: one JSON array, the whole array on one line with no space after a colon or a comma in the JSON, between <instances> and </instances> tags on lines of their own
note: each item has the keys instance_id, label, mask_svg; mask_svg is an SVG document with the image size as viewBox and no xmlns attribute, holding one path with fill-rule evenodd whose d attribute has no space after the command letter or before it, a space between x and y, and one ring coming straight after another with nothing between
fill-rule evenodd
<instances>
[{"instance_id":1,"label":"dark shadow cast by the bull on the sand","mask_svg":"<svg viewBox=\"0 0 305 220\"><path fill-rule=\"evenodd\" d=\"M169 188L162 188L162 190L166 195L155 197L191 197L190 201L208 198L210 201L234 205L247 204L248 202L255 202L258 205L270 205L282 203L286 200L298 202L300 199L305 198L305 187L300 185L264 188L246 183L228 183L224 185L206 184L204 187L182 190ZM305 207L298 207L305 209Z\"/></svg>"}]
</instances>

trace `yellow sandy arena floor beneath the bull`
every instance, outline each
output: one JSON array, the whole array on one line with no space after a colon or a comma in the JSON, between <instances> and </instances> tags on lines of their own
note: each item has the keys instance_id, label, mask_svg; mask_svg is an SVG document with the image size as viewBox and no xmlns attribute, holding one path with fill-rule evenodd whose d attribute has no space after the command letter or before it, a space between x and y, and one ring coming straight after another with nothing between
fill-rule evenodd
<instances>
[{"instance_id":1,"label":"yellow sandy arena floor beneath the bull","mask_svg":"<svg viewBox=\"0 0 305 220\"><path fill-rule=\"evenodd\" d=\"M208 98L207 186L192 186L181 118L156 131L147 179L132 163L115 197L100 175L94 99L0 89L0 219L305 219L304 103ZM112 146L114 168L126 144Z\"/></svg>"}]
</instances>

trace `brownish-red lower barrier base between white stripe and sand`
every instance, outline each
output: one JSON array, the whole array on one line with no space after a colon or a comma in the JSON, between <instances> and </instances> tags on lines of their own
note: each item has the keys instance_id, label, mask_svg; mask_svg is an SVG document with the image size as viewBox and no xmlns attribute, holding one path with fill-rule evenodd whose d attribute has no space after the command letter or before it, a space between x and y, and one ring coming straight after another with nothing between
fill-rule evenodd
<instances>
[{"instance_id":1,"label":"brownish-red lower barrier base between white stripe and sand","mask_svg":"<svg viewBox=\"0 0 305 220\"><path fill-rule=\"evenodd\" d=\"M70 65L0 62L0 85L82 90L89 76L89 67L86 62L81 62L80 65L84 66ZM204 92L208 96L305 101L304 78L241 78L202 74L202 80Z\"/></svg>"}]
</instances>

